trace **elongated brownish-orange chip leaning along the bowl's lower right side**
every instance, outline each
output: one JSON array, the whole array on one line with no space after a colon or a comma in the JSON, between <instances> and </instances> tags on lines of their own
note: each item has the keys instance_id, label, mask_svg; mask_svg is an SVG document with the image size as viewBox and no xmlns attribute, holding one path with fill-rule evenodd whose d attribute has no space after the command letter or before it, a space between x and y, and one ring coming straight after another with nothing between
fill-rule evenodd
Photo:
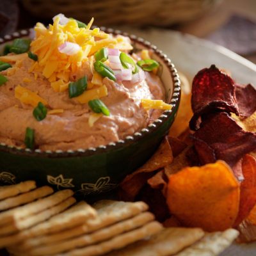
<instances>
[{"instance_id":1,"label":"elongated brownish-orange chip leaning along the bowl's lower right side","mask_svg":"<svg viewBox=\"0 0 256 256\"><path fill-rule=\"evenodd\" d=\"M127 175L122 181L119 190L120 198L127 201L134 200L147 180L155 174L155 171L172 163L172 161L172 149L166 136L154 155L136 172Z\"/></svg>"}]
</instances>

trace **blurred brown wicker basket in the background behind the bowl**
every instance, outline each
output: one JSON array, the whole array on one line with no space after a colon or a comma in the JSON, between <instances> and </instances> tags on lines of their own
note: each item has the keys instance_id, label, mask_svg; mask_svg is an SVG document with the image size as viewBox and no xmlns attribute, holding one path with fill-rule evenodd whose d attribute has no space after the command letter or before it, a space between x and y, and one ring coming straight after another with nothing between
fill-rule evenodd
<instances>
[{"instance_id":1,"label":"blurred brown wicker basket in the background behind the bowl","mask_svg":"<svg viewBox=\"0 0 256 256\"><path fill-rule=\"evenodd\" d=\"M170 26L196 19L220 0L22 0L38 18L58 13L98 26L113 24Z\"/></svg>"}]
</instances>

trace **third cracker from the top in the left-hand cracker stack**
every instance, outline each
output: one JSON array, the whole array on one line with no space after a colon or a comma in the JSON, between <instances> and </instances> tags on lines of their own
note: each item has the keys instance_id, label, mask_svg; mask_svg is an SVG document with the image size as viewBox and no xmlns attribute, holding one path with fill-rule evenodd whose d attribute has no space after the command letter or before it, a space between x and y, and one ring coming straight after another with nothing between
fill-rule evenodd
<instances>
[{"instance_id":1,"label":"third cracker from the top in the left-hand cracker stack","mask_svg":"<svg viewBox=\"0 0 256 256\"><path fill-rule=\"evenodd\" d=\"M44 188L44 189L43 189ZM52 193L52 188L45 186L42 188L42 191L40 193ZM46 192L45 192L46 191ZM40 195L42 195L40 194ZM39 200L36 200L35 202L30 202L29 204L22 205L20 207L16 207L14 209L11 209L10 211L5 211L0 213L0 226L6 225L6 223L14 222L15 220L21 219L21 218L27 218L29 215L35 214L40 211L44 211L45 209L52 207L56 204L60 204L63 200L67 199L68 197L74 195L74 192L70 189L65 189L58 191L50 196L47 196L45 198L40 198ZM42 197L42 196L41 196ZM0 228L1 232L1 228Z\"/></svg>"}]
</instances>

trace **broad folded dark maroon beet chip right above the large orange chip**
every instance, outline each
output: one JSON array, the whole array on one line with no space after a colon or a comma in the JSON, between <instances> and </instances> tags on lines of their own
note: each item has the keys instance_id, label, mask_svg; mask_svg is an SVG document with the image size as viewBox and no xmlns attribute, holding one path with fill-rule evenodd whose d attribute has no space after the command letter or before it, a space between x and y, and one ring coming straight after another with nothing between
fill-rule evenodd
<instances>
[{"instance_id":1,"label":"broad folded dark maroon beet chip right above the large orange chip","mask_svg":"<svg viewBox=\"0 0 256 256\"><path fill-rule=\"evenodd\" d=\"M221 159L233 168L256 149L256 134L244 131L227 113L209 115L200 126L192 137L202 164Z\"/></svg>"}]
</instances>

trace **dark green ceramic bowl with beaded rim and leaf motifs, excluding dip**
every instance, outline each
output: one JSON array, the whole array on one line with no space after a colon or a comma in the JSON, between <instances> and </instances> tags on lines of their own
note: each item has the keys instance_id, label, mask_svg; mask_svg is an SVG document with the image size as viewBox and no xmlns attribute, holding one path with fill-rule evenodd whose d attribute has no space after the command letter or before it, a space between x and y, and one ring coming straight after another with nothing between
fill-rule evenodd
<instances>
[{"instance_id":1,"label":"dark green ceramic bowl with beaded rim and leaf motifs, excluding dip","mask_svg":"<svg viewBox=\"0 0 256 256\"><path fill-rule=\"evenodd\" d=\"M161 63L159 76L166 89L166 102L172 104L154 123L125 140L113 141L97 148L56 150L55 152L29 150L0 144L0 182L14 184L22 180L36 180L56 189L71 188L79 195L96 195L116 188L125 175L136 170L152 156L173 123L180 102L180 81L173 63L156 46L121 31L101 28L107 33L129 36L135 49L152 49L154 59ZM29 35L28 30L0 38L0 47L6 42ZM1 49L0 49L1 51Z\"/></svg>"}]
</instances>

